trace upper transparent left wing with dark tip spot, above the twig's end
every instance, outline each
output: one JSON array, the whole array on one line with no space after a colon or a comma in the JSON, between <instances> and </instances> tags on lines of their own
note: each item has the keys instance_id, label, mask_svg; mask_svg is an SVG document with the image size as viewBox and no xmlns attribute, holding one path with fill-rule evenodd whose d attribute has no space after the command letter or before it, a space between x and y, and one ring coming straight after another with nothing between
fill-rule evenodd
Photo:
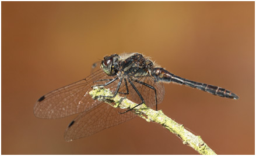
<instances>
[{"instance_id":1,"label":"upper transparent left wing with dark tip spot, above the twig's end","mask_svg":"<svg viewBox=\"0 0 256 156\"><path fill-rule=\"evenodd\" d=\"M85 79L47 93L36 102L34 115L54 119L90 110L101 103L89 95L91 86L95 85L94 81L110 78L100 69ZM109 87L116 83L113 82Z\"/></svg>"}]
</instances>

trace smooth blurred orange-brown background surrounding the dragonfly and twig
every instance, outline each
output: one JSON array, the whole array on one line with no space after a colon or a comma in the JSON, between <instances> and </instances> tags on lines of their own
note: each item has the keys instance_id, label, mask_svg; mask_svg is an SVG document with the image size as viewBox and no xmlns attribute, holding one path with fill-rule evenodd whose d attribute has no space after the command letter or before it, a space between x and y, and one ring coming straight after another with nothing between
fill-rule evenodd
<instances>
[{"instance_id":1,"label":"smooth blurred orange-brown background surrounding the dragonfly and twig","mask_svg":"<svg viewBox=\"0 0 256 156\"><path fill-rule=\"evenodd\" d=\"M39 97L123 52L237 93L166 84L159 109L217 154L254 154L254 2L2 2L2 154L197 154L141 118L65 142L76 115L34 117Z\"/></svg>"}]
</instances>

